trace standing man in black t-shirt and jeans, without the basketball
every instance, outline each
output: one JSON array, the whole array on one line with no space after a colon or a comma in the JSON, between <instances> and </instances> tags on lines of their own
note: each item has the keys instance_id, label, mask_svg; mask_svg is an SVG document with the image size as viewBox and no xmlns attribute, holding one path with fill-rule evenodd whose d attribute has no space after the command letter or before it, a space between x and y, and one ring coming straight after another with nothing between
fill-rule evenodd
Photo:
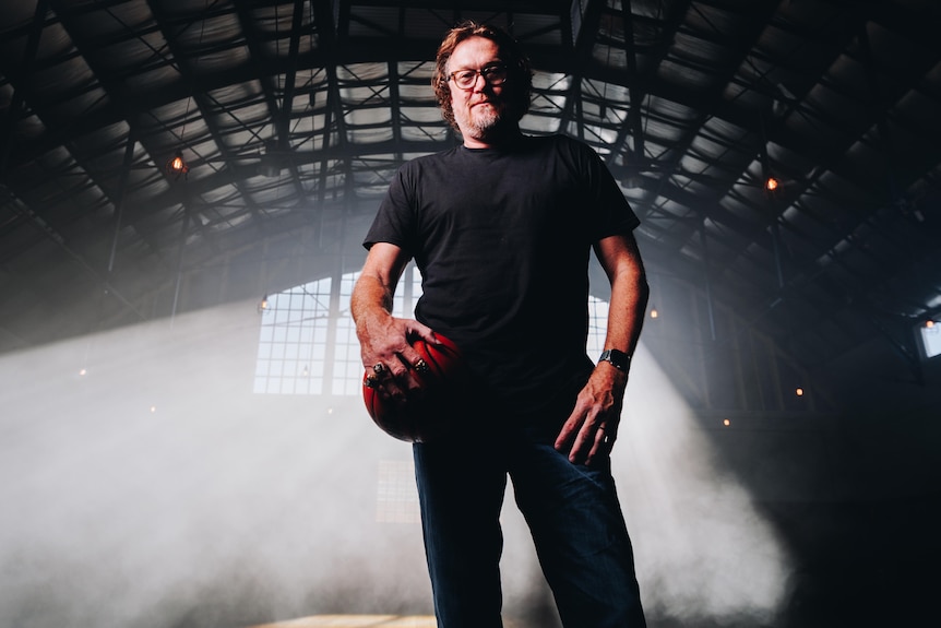
<instances>
[{"instance_id":1,"label":"standing man in black t-shirt and jeans, without the basketball","mask_svg":"<svg viewBox=\"0 0 941 628\"><path fill-rule=\"evenodd\" d=\"M504 32L475 23L442 42L432 84L463 144L398 171L367 234L352 310L367 384L407 400L425 366L409 341L462 349L473 381L454 426L414 445L440 628L499 628L507 477L567 628L644 626L610 475L647 285L638 218L597 155L524 137L532 71ZM587 263L611 283L607 349L585 355ZM410 259L416 319L390 313Z\"/></svg>"}]
</instances>

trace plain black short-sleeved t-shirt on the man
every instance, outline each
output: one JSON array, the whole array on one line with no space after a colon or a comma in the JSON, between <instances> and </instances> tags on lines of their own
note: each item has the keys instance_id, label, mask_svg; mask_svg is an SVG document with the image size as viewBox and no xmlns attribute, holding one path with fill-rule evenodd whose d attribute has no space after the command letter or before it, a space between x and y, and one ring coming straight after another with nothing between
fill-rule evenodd
<instances>
[{"instance_id":1,"label":"plain black short-sleeved t-shirt on the man","mask_svg":"<svg viewBox=\"0 0 941 628\"><path fill-rule=\"evenodd\" d=\"M638 224L587 145L522 138L406 163L364 245L414 257L422 277L415 318L457 343L478 384L512 407L591 368L592 245Z\"/></svg>"}]
</instances>

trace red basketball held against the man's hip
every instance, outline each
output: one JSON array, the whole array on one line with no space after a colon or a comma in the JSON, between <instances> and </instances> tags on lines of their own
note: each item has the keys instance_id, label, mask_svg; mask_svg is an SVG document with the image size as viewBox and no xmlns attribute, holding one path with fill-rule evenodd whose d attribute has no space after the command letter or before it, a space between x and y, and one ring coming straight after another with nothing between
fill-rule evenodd
<instances>
[{"instance_id":1,"label":"red basketball held against the man's hip","mask_svg":"<svg viewBox=\"0 0 941 628\"><path fill-rule=\"evenodd\" d=\"M398 440L427 442L444 434L454 400L461 395L465 382L461 352L449 339L440 334L437 337L440 344L421 339L412 343L428 365L425 372L409 370L420 383L418 394L396 402L376 389L362 387L362 400L369 416L383 431Z\"/></svg>"}]
</instances>

